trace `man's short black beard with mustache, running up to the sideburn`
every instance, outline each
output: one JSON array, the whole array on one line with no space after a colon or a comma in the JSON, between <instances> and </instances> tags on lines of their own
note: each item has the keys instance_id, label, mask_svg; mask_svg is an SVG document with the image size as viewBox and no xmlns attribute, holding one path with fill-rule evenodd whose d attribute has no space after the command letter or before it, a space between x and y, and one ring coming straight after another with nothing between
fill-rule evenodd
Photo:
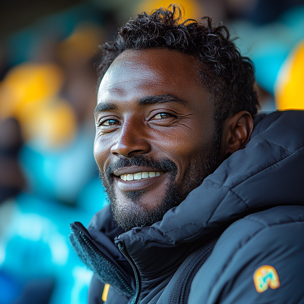
<instances>
[{"instance_id":1,"label":"man's short black beard with mustache, running up to the sideburn","mask_svg":"<svg viewBox=\"0 0 304 304\"><path fill-rule=\"evenodd\" d=\"M106 189L116 224L128 231L133 227L150 226L160 221L168 210L178 206L193 189L201 185L202 181L219 166L220 153L217 140L214 140L207 150L205 153L204 151L193 153L194 157L189 161L182 183L176 181L178 174L177 165L167 158L155 160L143 154L134 155L130 158L118 156L116 161L112 162L105 172L98 168L99 177ZM123 206L119 204L114 188L113 172L118 168L130 166L155 168L168 174L169 182L161 202L144 203L141 197L146 191L136 190L126 191L124 196L127 203L123 204Z\"/></svg>"}]
</instances>

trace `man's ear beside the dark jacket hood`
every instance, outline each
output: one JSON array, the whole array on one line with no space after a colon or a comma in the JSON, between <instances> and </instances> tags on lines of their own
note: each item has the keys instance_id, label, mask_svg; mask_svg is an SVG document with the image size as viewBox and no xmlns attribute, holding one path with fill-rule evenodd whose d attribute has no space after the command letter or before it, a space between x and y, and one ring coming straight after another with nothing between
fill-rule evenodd
<instances>
[{"instance_id":1,"label":"man's ear beside the dark jacket hood","mask_svg":"<svg viewBox=\"0 0 304 304\"><path fill-rule=\"evenodd\" d=\"M237 150L244 149L253 131L253 119L249 112L241 111L228 118L222 135L222 157L228 158Z\"/></svg>"}]
</instances>

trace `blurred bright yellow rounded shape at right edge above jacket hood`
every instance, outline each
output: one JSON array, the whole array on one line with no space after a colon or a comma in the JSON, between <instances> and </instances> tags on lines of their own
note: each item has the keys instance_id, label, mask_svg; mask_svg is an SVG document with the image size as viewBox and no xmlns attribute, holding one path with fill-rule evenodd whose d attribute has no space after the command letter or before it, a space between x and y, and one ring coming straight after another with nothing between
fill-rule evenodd
<instances>
[{"instance_id":1,"label":"blurred bright yellow rounded shape at right edge above jacket hood","mask_svg":"<svg viewBox=\"0 0 304 304\"><path fill-rule=\"evenodd\" d=\"M282 64L274 88L277 109L304 109L304 41Z\"/></svg>"}]
</instances>

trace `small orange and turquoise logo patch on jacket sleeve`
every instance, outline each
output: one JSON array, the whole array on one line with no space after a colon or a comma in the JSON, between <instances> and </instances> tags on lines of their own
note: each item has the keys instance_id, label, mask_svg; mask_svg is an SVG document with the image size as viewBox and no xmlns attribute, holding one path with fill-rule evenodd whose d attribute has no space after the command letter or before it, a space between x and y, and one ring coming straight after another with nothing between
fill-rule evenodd
<instances>
[{"instance_id":1,"label":"small orange and turquoise logo patch on jacket sleeve","mask_svg":"<svg viewBox=\"0 0 304 304\"><path fill-rule=\"evenodd\" d=\"M269 265L263 265L254 271L253 282L255 289L260 293L267 290L268 287L276 289L281 285L277 271Z\"/></svg>"}]
</instances>

